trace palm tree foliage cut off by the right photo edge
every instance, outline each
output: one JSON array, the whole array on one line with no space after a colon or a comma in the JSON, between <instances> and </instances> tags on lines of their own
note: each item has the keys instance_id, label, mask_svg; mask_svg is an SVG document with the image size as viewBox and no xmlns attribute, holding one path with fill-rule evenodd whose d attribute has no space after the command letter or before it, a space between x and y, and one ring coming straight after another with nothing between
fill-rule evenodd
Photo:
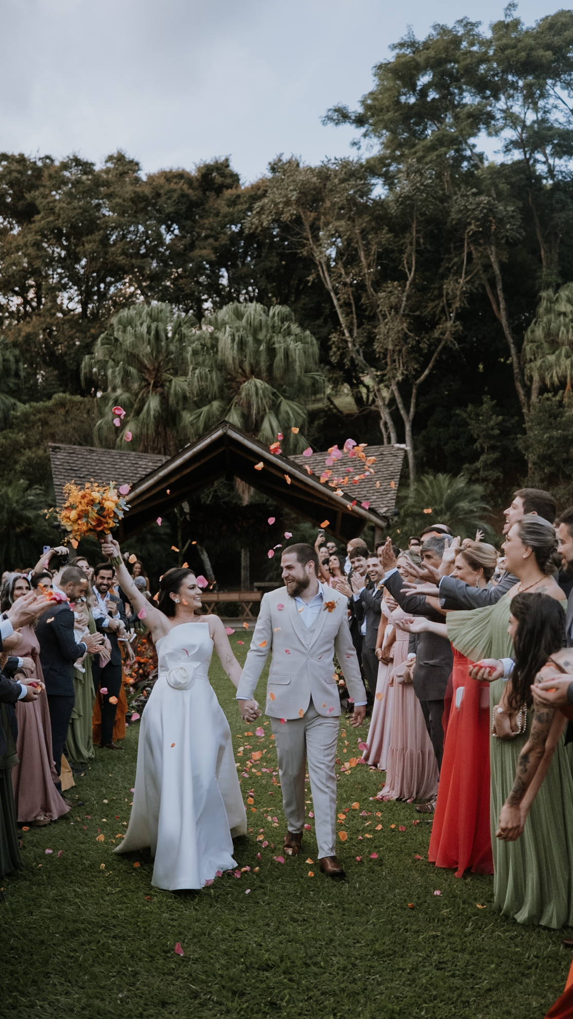
<instances>
[{"instance_id":1,"label":"palm tree foliage cut off by the right photo edge","mask_svg":"<svg viewBox=\"0 0 573 1019\"><path fill-rule=\"evenodd\" d=\"M573 283L565 283L557 293L542 290L537 314L525 333L523 346L526 372L530 378L571 389L573 381Z\"/></svg>"}]
</instances>

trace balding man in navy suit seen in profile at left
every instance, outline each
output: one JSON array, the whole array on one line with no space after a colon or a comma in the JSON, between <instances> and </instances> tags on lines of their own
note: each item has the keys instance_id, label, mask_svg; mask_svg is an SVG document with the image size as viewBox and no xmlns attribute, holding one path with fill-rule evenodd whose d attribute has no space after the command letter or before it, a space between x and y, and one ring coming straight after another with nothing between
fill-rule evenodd
<instances>
[{"instance_id":1,"label":"balding man in navy suit seen in profile at left","mask_svg":"<svg viewBox=\"0 0 573 1019\"><path fill-rule=\"evenodd\" d=\"M58 576L58 592L64 600L51 604L38 621L40 661L46 683L52 730L52 750L56 771L60 774L61 759L73 711L73 663L87 651L100 651L103 638L87 634L77 644L73 635L74 616L70 601L75 603L88 590L88 578L77 567L65 567Z\"/></svg>"}]
</instances>

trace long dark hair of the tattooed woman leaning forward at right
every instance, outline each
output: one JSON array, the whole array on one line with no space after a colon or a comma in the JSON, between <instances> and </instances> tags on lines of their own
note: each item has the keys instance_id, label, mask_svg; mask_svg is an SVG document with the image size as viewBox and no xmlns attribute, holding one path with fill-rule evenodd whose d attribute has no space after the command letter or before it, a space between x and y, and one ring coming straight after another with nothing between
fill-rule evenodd
<instances>
[{"instance_id":1,"label":"long dark hair of the tattooed woman leaning forward at right","mask_svg":"<svg viewBox=\"0 0 573 1019\"><path fill-rule=\"evenodd\" d=\"M559 601L549 594L516 594L510 611L517 621L513 641L515 668L511 678L508 704L512 711L525 705L531 707L531 685L535 676L556 651L560 651L565 634L565 612Z\"/></svg>"}]
</instances>

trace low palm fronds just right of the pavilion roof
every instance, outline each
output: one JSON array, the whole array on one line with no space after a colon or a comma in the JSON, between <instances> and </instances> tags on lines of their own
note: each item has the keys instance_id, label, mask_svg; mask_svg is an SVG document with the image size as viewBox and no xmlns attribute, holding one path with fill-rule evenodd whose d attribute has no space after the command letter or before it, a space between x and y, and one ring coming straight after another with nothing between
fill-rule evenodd
<instances>
[{"instance_id":1,"label":"low palm fronds just right of the pavilion roof","mask_svg":"<svg viewBox=\"0 0 573 1019\"><path fill-rule=\"evenodd\" d=\"M492 532L483 521L490 506L483 499L482 485L471 484L462 475L424 474L402 497L400 508L400 537L416 534L429 524L448 524L454 535L474 538L479 528Z\"/></svg>"}]
</instances>

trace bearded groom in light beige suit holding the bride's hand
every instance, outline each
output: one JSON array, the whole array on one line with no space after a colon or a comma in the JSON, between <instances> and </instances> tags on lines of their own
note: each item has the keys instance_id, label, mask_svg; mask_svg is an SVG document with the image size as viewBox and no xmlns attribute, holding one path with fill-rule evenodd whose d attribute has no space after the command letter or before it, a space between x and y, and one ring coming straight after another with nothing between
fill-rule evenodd
<instances>
[{"instance_id":1,"label":"bearded groom in light beige suit holding the bride's hand","mask_svg":"<svg viewBox=\"0 0 573 1019\"><path fill-rule=\"evenodd\" d=\"M237 700L243 719L253 721L254 690L272 651L266 712L275 735L288 824L285 853L296 856L302 842L307 760L321 870L329 877L344 877L335 848L340 715L335 651L354 701L351 725L359 726L366 710L348 626L348 599L319 582L319 557L311 545L290 545L281 567L285 586L263 597Z\"/></svg>"}]
</instances>

